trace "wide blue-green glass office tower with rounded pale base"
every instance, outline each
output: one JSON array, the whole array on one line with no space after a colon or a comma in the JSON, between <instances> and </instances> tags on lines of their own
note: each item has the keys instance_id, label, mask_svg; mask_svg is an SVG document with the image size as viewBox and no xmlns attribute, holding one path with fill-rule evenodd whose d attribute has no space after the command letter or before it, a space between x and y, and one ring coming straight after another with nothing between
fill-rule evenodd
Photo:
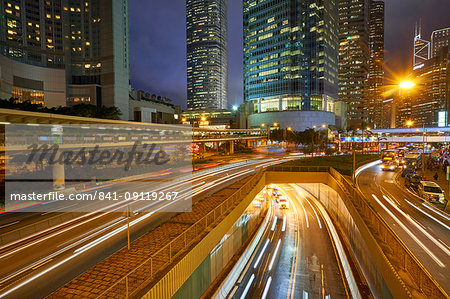
<instances>
[{"instance_id":1,"label":"wide blue-green glass office tower with rounded pale base","mask_svg":"<svg viewBox=\"0 0 450 299\"><path fill-rule=\"evenodd\" d=\"M243 10L249 126L334 125L337 2L244 0Z\"/></svg>"}]
</instances>

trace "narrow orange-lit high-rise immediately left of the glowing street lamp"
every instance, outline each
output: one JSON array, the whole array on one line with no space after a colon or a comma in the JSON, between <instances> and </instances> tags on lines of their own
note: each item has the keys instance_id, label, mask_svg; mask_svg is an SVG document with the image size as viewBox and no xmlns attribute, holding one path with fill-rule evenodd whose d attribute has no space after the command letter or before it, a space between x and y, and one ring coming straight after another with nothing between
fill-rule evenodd
<instances>
[{"instance_id":1,"label":"narrow orange-lit high-rise immediately left of the glowing street lamp","mask_svg":"<svg viewBox=\"0 0 450 299\"><path fill-rule=\"evenodd\" d=\"M384 79L384 1L372 0L369 11L369 102L368 125L380 128L383 123Z\"/></svg>"}]
</instances>

